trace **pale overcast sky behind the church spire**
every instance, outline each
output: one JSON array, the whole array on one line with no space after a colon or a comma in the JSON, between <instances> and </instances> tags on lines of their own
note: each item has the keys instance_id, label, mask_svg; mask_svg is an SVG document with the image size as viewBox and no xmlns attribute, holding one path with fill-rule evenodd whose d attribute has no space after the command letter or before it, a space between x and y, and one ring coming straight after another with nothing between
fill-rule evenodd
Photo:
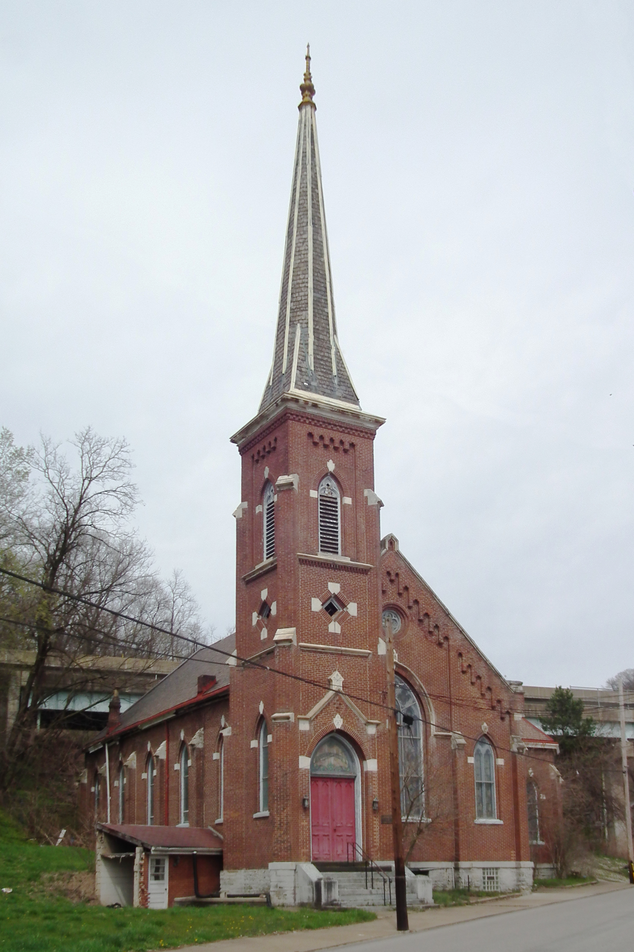
<instances>
[{"instance_id":1,"label":"pale overcast sky behind the church spire","mask_svg":"<svg viewBox=\"0 0 634 952\"><path fill-rule=\"evenodd\" d=\"M234 619L306 40L383 532L504 674L634 665L634 6L0 3L0 424L125 435Z\"/></svg>"}]
</instances>

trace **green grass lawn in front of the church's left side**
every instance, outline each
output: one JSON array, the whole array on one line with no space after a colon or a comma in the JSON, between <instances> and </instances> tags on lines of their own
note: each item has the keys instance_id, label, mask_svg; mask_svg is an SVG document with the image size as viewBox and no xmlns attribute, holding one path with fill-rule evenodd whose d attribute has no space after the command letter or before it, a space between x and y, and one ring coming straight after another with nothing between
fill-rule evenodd
<instances>
[{"instance_id":1,"label":"green grass lawn in front of the church's left side","mask_svg":"<svg viewBox=\"0 0 634 952\"><path fill-rule=\"evenodd\" d=\"M65 874L94 868L94 854L39 846L0 815L0 952L144 952L236 936L369 922L373 912L268 909L262 906L105 909L70 902L45 888Z\"/></svg>"}]
</instances>

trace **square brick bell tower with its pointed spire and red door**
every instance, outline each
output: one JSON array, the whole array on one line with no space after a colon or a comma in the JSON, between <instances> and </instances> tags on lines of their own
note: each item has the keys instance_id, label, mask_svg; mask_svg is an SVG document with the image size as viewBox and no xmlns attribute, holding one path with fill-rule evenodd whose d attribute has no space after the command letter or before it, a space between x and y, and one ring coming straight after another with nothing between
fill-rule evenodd
<instances>
[{"instance_id":1,"label":"square brick bell tower with its pointed spire and red door","mask_svg":"<svg viewBox=\"0 0 634 952\"><path fill-rule=\"evenodd\" d=\"M385 701L373 449L384 421L361 410L337 338L308 51L299 89L273 364L257 416L232 437L236 650L270 670L231 667L227 870L345 859L348 843L376 855L377 798L389 803L385 713L346 697Z\"/></svg>"}]
</instances>

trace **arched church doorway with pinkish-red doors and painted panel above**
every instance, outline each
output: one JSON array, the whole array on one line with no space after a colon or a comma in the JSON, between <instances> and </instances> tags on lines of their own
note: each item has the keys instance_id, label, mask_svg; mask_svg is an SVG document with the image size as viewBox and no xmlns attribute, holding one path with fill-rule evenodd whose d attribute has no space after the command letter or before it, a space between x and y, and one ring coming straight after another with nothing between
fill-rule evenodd
<instances>
[{"instance_id":1,"label":"arched church doorway with pinkish-red doors and painted panel above","mask_svg":"<svg viewBox=\"0 0 634 952\"><path fill-rule=\"evenodd\" d=\"M336 734L317 744L311 758L313 861L355 860L360 778L352 747Z\"/></svg>"}]
</instances>

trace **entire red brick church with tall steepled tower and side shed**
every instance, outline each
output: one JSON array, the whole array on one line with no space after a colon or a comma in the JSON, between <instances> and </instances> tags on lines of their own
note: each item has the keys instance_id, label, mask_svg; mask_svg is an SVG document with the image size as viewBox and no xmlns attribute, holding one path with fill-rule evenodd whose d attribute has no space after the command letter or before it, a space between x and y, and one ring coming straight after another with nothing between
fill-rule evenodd
<instances>
[{"instance_id":1,"label":"entire red brick church with tall steepled tower and side shed","mask_svg":"<svg viewBox=\"0 0 634 952\"><path fill-rule=\"evenodd\" d=\"M300 91L273 363L232 437L236 634L124 714L115 697L86 752L106 904L389 899L388 622L408 902L431 902L432 884L528 887L550 862L556 744L394 535L381 539L384 420L361 408L337 337L309 57Z\"/></svg>"}]
</instances>

